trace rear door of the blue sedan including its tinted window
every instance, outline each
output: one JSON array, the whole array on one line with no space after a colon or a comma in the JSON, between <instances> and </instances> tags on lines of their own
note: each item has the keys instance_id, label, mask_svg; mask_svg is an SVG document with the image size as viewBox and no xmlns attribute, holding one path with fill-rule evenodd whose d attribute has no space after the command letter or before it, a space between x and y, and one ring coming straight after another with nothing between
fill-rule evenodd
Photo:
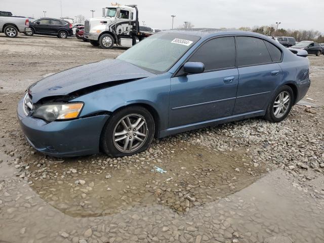
<instances>
[{"instance_id":1,"label":"rear door of the blue sedan including its tinted window","mask_svg":"<svg viewBox=\"0 0 324 243\"><path fill-rule=\"evenodd\" d=\"M236 52L239 81L233 114L263 110L282 79L281 51L261 38L237 36Z\"/></svg>"}]
</instances>

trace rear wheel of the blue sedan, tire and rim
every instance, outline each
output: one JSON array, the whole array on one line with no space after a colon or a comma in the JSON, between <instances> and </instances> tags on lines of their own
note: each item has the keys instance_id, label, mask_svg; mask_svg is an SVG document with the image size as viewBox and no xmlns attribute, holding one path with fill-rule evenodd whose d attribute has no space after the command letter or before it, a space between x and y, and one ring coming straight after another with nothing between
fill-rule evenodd
<instances>
[{"instance_id":1,"label":"rear wheel of the blue sedan, tire and rim","mask_svg":"<svg viewBox=\"0 0 324 243\"><path fill-rule=\"evenodd\" d=\"M281 94L284 95L283 98L279 97L279 95ZM289 96L289 100L288 102L285 103L285 99L287 96ZM271 98L271 101L267 107L264 118L266 120L271 121L272 123L279 123L281 120L284 120L287 117L287 115L289 114L293 106L293 102L294 102L294 92L292 88L290 88L287 85L280 87ZM282 109L280 109L280 106L282 107ZM280 109L280 111L277 114L275 114L277 109Z\"/></svg>"}]
</instances>

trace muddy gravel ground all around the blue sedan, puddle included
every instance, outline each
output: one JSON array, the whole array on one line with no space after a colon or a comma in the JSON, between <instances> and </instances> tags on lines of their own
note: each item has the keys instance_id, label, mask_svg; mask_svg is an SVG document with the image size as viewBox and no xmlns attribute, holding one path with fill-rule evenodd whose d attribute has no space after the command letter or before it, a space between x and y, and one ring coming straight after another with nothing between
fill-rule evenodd
<instances>
[{"instance_id":1,"label":"muddy gravel ground all around the blue sedan, puddle included","mask_svg":"<svg viewBox=\"0 0 324 243\"><path fill-rule=\"evenodd\" d=\"M317 107L296 105L282 123L247 119L130 157L62 160L26 142L15 111L24 89L124 50L74 38L0 42L0 242L324 242L323 56L309 56L304 100Z\"/></svg>"}]
</instances>

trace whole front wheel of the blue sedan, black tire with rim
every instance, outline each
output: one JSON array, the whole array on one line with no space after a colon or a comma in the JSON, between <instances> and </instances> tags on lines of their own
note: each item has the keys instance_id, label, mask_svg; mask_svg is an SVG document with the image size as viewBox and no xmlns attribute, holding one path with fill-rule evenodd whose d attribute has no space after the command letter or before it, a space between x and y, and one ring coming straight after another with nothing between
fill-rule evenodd
<instances>
[{"instance_id":1,"label":"whole front wheel of the blue sedan, black tire with rim","mask_svg":"<svg viewBox=\"0 0 324 243\"><path fill-rule=\"evenodd\" d=\"M129 122L131 126L129 126ZM140 128L134 131L136 126L140 126ZM101 133L100 146L106 154L115 157L130 156L147 149L153 140L154 132L154 119L147 109L142 106L126 107L109 117ZM117 133L118 135L116 135ZM119 141L115 141L115 139L119 139Z\"/></svg>"}]
</instances>

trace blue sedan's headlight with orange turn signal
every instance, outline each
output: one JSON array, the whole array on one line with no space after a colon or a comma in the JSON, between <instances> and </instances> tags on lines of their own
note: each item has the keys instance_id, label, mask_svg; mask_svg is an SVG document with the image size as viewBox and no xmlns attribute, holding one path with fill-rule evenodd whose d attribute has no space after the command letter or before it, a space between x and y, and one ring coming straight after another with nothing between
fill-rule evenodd
<instances>
[{"instance_id":1,"label":"blue sedan's headlight with orange turn signal","mask_svg":"<svg viewBox=\"0 0 324 243\"><path fill-rule=\"evenodd\" d=\"M54 120L72 119L79 115L82 107L83 103L43 105L39 107L32 116L49 122Z\"/></svg>"}]
</instances>

